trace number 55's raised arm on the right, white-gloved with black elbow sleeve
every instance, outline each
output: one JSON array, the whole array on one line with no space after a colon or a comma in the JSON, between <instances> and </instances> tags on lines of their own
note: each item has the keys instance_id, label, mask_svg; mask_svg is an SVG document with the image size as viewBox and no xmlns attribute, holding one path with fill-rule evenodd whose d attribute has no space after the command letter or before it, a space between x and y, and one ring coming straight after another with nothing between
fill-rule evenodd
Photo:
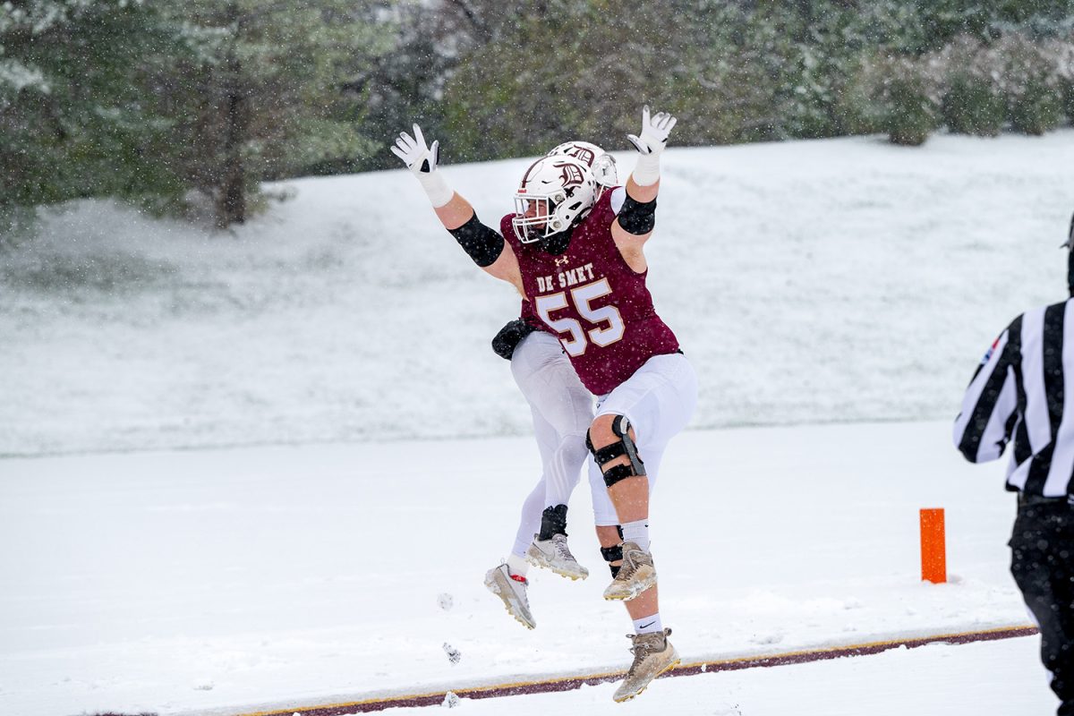
<instances>
[{"instance_id":1,"label":"number 55's raised arm on the right, white-gloved with black elbow sleeve","mask_svg":"<svg viewBox=\"0 0 1074 716\"><path fill-rule=\"evenodd\" d=\"M661 154L674 125L676 118L666 112L650 116L649 105L645 105L641 109L641 135L626 135L638 150L638 163L626 180L626 199L611 225L611 234L623 259L639 273L647 267L642 246L652 235L656 222Z\"/></svg>"}]
</instances>

